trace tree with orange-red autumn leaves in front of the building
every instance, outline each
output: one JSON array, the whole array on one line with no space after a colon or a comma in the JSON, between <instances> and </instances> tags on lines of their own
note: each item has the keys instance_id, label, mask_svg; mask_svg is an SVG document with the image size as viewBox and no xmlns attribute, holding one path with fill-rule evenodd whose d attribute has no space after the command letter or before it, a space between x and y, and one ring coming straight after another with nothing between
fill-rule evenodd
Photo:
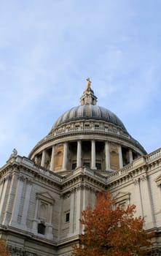
<instances>
[{"instance_id":1,"label":"tree with orange-red autumn leaves in front of the building","mask_svg":"<svg viewBox=\"0 0 161 256\"><path fill-rule=\"evenodd\" d=\"M74 256L144 255L152 236L143 229L144 219L134 217L136 206L122 209L116 203L109 192L101 192L95 208L82 212L85 232L74 246Z\"/></svg>"}]
</instances>

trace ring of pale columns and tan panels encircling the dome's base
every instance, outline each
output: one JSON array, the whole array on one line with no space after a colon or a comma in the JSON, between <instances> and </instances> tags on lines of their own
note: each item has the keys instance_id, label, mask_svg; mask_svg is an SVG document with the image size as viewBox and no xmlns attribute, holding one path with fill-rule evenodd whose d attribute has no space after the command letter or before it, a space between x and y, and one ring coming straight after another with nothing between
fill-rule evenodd
<instances>
[{"instance_id":1,"label":"ring of pale columns and tan panels encircling the dome's base","mask_svg":"<svg viewBox=\"0 0 161 256\"><path fill-rule=\"evenodd\" d=\"M119 170L139 154L131 148L100 140L77 140L55 144L36 154L37 165L52 171L70 171L90 167L98 171Z\"/></svg>"}]
</instances>

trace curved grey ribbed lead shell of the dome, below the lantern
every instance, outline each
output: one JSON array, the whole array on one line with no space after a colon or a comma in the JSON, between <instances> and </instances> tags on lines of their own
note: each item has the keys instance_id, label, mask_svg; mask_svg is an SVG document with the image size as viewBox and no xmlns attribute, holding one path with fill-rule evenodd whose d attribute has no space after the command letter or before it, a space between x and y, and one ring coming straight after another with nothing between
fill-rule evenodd
<instances>
[{"instance_id":1,"label":"curved grey ribbed lead shell of the dome, below the lantern","mask_svg":"<svg viewBox=\"0 0 161 256\"><path fill-rule=\"evenodd\" d=\"M122 121L114 113L98 105L79 105L71 108L58 118L52 129L59 127L61 124L66 124L69 121L76 121L80 119L106 121L108 123L117 125L127 132Z\"/></svg>"}]
</instances>

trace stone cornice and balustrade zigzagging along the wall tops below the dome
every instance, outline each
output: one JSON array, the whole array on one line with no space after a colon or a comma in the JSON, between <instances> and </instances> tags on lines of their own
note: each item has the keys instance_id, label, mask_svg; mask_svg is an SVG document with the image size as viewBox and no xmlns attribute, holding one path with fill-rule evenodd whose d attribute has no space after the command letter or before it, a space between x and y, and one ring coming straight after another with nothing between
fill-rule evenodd
<instances>
[{"instance_id":1,"label":"stone cornice and balustrade zigzagging along the wall tops below the dome","mask_svg":"<svg viewBox=\"0 0 161 256\"><path fill-rule=\"evenodd\" d=\"M30 159L17 156L13 161L11 159L11 162L8 162L4 168L1 168L0 177L3 178L7 176L7 173L9 173L9 176L12 176L14 172L23 173L25 177L29 176L32 182L41 181L45 185L49 184L52 187L57 187L60 192L66 193L78 184L82 184L82 187L90 186L96 189L117 187L127 182L135 184L136 180L141 178L141 176L151 175L152 169L159 167L160 163L161 148L144 157L135 159L129 165L126 165L106 177L101 175L97 170L90 170L87 167L77 168L71 171L68 176L60 176L43 167L38 167Z\"/></svg>"}]
</instances>

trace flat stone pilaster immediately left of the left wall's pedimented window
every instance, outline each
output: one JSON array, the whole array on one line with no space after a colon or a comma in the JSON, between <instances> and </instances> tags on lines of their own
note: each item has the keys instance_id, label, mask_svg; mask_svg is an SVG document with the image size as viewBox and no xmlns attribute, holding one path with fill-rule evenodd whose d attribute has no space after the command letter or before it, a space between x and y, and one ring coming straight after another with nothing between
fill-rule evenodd
<instances>
[{"instance_id":1,"label":"flat stone pilaster immediately left of the left wall's pedimented window","mask_svg":"<svg viewBox=\"0 0 161 256\"><path fill-rule=\"evenodd\" d=\"M28 217L28 206L31 197L31 189L32 189L32 181L27 181L26 191L25 191L25 200L23 205L23 214L21 219L21 225L23 225L23 229L26 228L26 219Z\"/></svg>"}]
</instances>

